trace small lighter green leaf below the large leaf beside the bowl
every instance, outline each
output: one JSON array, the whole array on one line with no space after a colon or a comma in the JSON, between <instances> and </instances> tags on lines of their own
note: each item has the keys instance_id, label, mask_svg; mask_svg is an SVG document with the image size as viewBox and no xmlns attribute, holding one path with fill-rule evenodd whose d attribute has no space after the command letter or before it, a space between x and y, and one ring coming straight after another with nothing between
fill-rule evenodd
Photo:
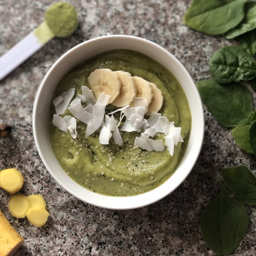
<instances>
[{"instance_id":1,"label":"small lighter green leaf below the large leaf beside the bowl","mask_svg":"<svg viewBox=\"0 0 256 256\"><path fill-rule=\"evenodd\" d=\"M236 144L246 152L253 153L249 135L249 124L238 126L232 129L231 133Z\"/></svg>"}]
</instances>

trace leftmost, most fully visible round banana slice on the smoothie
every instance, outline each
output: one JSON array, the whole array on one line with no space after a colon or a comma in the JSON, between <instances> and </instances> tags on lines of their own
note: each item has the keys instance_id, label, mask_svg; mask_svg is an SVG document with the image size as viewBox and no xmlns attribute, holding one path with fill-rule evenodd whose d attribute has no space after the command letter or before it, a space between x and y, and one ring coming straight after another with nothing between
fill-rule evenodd
<instances>
[{"instance_id":1,"label":"leftmost, most fully visible round banana slice on the smoothie","mask_svg":"<svg viewBox=\"0 0 256 256\"><path fill-rule=\"evenodd\" d=\"M115 100L121 89L121 82L117 74L115 74L109 68L95 69L88 76L88 83L94 93L96 100L101 93L110 95L110 100L108 103L111 103Z\"/></svg>"}]
</instances>

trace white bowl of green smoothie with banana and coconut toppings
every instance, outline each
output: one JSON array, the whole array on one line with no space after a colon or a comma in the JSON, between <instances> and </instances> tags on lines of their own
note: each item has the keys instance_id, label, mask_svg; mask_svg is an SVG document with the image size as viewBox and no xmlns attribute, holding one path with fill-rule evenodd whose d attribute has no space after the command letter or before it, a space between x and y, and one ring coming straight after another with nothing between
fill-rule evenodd
<instances>
[{"instance_id":1,"label":"white bowl of green smoothie with banana and coconut toppings","mask_svg":"<svg viewBox=\"0 0 256 256\"><path fill-rule=\"evenodd\" d=\"M54 179L84 202L133 209L189 175L202 146L202 102L162 47L106 36L64 54L35 97L33 129Z\"/></svg>"}]
</instances>

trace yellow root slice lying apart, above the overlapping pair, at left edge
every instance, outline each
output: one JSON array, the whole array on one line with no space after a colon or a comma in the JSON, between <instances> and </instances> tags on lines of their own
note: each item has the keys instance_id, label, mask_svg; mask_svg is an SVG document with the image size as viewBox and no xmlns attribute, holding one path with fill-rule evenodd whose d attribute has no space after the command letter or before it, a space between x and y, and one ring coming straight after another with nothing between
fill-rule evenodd
<instances>
[{"instance_id":1,"label":"yellow root slice lying apart, above the overlapping pair, at left edge","mask_svg":"<svg viewBox=\"0 0 256 256\"><path fill-rule=\"evenodd\" d=\"M23 184L24 178L18 170L10 168L0 171L0 187L10 194L19 192Z\"/></svg>"}]
</instances>

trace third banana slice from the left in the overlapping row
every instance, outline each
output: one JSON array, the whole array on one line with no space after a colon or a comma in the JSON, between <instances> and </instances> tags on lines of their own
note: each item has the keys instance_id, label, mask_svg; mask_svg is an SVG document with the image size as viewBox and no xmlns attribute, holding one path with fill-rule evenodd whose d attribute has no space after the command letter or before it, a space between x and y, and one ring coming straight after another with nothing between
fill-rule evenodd
<instances>
[{"instance_id":1,"label":"third banana slice from the left in the overlapping row","mask_svg":"<svg viewBox=\"0 0 256 256\"><path fill-rule=\"evenodd\" d=\"M146 81L145 79L134 76L133 77L136 88L137 88L137 94L136 97L145 98L148 101L148 106L150 105L152 99L153 99L153 90L151 88L150 82ZM130 107L134 106L134 102L130 104Z\"/></svg>"}]
</instances>

